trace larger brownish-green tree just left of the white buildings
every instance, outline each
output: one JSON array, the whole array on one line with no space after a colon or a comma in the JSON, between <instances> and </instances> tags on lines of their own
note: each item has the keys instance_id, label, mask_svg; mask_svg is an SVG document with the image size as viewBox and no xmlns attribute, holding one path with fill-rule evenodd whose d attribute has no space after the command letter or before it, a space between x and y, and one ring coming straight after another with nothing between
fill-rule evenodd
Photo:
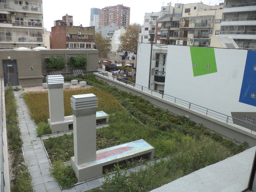
<instances>
[{"instance_id":1,"label":"larger brownish-green tree just left of the white buildings","mask_svg":"<svg viewBox=\"0 0 256 192\"><path fill-rule=\"evenodd\" d=\"M133 23L127 27L125 33L119 37L120 45L118 48L121 50L131 51L136 54L140 31L141 26L138 23Z\"/></svg>"}]
</instances>

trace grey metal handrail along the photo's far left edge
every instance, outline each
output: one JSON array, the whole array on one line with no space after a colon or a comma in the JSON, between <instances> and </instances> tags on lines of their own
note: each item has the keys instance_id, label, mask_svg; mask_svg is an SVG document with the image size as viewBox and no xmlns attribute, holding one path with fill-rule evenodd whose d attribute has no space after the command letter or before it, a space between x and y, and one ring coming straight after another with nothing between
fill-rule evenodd
<instances>
[{"instance_id":1,"label":"grey metal handrail along the photo's far left edge","mask_svg":"<svg viewBox=\"0 0 256 192\"><path fill-rule=\"evenodd\" d=\"M1 154L0 154L0 166L1 166L1 192L4 192L5 182L4 182L4 141L3 141L3 79L1 77L1 102L0 102L0 145L1 145Z\"/></svg>"}]
</instances>

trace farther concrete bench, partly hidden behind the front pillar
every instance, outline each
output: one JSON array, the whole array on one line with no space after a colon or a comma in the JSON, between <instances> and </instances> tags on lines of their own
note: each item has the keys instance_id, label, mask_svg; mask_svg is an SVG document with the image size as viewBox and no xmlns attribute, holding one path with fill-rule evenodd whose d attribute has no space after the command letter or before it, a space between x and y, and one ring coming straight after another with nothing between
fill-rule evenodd
<instances>
[{"instance_id":1,"label":"farther concrete bench, partly hidden behind the front pillar","mask_svg":"<svg viewBox=\"0 0 256 192\"><path fill-rule=\"evenodd\" d=\"M97 111L96 112L96 120L100 120L100 119L103 119L103 120L106 121L106 123L109 123L109 115L106 114L103 111ZM48 119L48 124L59 125L57 127L54 126L54 127L56 127L56 130L52 129L52 133L57 133L58 131L68 131L68 126L62 126L62 125L71 125L71 124L73 124L73 115L65 116L64 121L59 121L59 122L54 122L54 123L50 123L50 119Z\"/></svg>"}]
</instances>

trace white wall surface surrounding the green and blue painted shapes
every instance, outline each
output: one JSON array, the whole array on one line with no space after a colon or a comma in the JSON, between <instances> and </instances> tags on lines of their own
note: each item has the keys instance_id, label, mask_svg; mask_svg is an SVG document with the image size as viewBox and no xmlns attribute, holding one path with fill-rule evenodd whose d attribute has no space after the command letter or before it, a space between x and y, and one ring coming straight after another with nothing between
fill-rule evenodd
<instances>
[{"instance_id":1,"label":"white wall surface surrounding the green and blue painted shapes","mask_svg":"<svg viewBox=\"0 0 256 192\"><path fill-rule=\"evenodd\" d=\"M190 47L169 45L164 93L229 116L255 112L255 106L239 102L247 51L214 48L214 52L217 72L194 77Z\"/></svg>"}]
</instances>

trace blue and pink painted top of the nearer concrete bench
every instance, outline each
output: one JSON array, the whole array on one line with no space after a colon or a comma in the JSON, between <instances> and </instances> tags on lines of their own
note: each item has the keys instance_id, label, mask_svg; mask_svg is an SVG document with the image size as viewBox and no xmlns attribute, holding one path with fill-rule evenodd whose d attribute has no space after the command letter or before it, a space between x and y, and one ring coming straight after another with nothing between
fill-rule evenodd
<instances>
[{"instance_id":1,"label":"blue and pink painted top of the nearer concrete bench","mask_svg":"<svg viewBox=\"0 0 256 192\"><path fill-rule=\"evenodd\" d=\"M78 165L79 169L84 167L90 167L101 164L109 165L113 162L122 161L125 159L129 159L132 157L137 157L143 154L149 154L148 158L154 158L155 148L148 144L143 139L136 140L129 143L120 144L114 147L105 148L102 150L96 151L96 161L92 161L89 163L84 163L82 165ZM74 160L74 157L71 157Z\"/></svg>"}]
</instances>

